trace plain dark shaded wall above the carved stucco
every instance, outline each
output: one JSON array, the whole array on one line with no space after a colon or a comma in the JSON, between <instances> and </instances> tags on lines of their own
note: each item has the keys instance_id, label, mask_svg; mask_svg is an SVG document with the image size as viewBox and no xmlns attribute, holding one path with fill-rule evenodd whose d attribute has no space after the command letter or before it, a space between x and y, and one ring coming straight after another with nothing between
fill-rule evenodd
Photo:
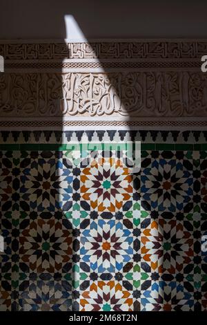
<instances>
[{"instance_id":1,"label":"plain dark shaded wall above the carved stucco","mask_svg":"<svg viewBox=\"0 0 207 325\"><path fill-rule=\"evenodd\" d=\"M205 0L0 0L0 39L74 38L65 15L86 39L207 38Z\"/></svg>"}]
</instances>

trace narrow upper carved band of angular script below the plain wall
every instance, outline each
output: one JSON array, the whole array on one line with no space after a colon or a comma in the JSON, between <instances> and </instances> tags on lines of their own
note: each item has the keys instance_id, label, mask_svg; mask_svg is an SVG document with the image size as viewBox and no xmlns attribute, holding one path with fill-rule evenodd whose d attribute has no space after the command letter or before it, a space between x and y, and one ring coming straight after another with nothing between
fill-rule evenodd
<instances>
[{"instance_id":1,"label":"narrow upper carved band of angular script below the plain wall","mask_svg":"<svg viewBox=\"0 0 207 325\"><path fill-rule=\"evenodd\" d=\"M207 40L153 39L121 41L10 41L0 42L5 59L200 59Z\"/></svg>"}]
</instances>

